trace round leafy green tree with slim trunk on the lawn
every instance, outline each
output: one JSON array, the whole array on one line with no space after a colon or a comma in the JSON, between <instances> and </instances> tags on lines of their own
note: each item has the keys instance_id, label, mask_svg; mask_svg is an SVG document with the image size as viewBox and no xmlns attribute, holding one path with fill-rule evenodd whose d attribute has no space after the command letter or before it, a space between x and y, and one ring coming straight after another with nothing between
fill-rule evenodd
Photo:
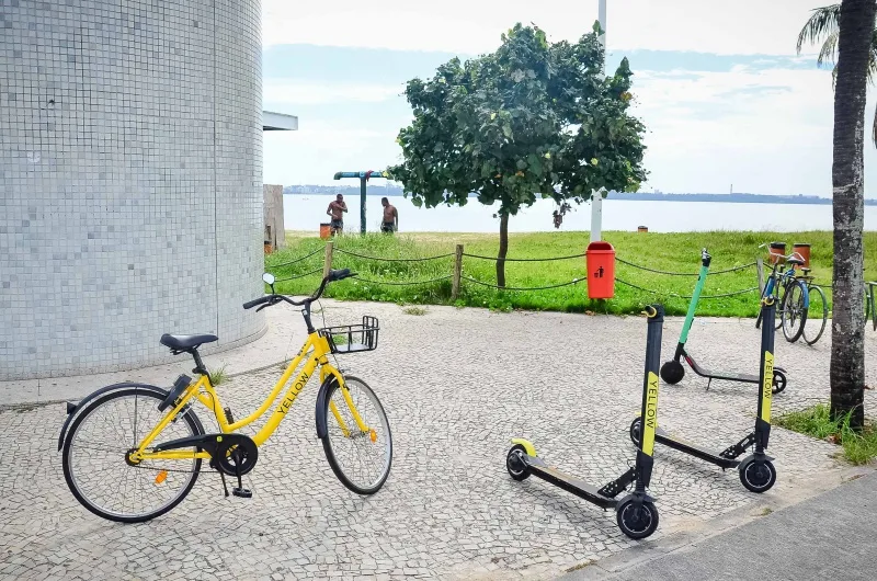
<instances>
[{"instance_id":1,"label":"round leafy green tree with slim trunk on the lawn","mask_svg":"<svg viewBox=\"0 0 877 581\"><path fill-rule=\"evenodd\" d=\"M645 180L645 127L628 114L627 59L602 73L593 32L578 43L548 43L520 23L497 52L408 82L413 123L399 132L402 162L388 172L415 206L465 205L475 193L499 202L497 284L505 286L509 217L537 196L579 204L601 187L637 191Z\"/></svg>"}]
</instances>

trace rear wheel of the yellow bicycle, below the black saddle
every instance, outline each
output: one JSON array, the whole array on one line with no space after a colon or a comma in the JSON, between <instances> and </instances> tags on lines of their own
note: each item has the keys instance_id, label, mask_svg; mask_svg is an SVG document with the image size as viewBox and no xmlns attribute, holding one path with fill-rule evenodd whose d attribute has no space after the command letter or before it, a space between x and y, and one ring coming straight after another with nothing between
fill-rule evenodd
<instances>
[{"instance_id":1,"label":"rear wheel of the yellow bicycle, below the black saddle","mask_svg":"<svg viewBox=\"0 0 877 581\"><path fill-rule=\"evenodd\" d=\"M73 420L62 448L64 477L73 497L98 516L119 523L149 521L176 506L195 486L200 459L127 462L128 451L164 417L158 410L164 396L158 388L111 391ZM203 433L190 411L168 424L160 441Z\"/></svg>"}]
</instances>

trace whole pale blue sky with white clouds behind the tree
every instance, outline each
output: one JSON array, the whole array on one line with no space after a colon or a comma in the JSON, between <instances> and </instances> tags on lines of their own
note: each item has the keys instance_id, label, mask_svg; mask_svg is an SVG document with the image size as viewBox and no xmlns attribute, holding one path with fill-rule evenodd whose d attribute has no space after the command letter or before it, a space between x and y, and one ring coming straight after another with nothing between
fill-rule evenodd
<instances>
[{"instance_id":1,"label":"whole pale blue sky with white clouds behind the tree","mask_svg":"<svg viewBox=\"0 0 877 581\"><path fill-rule=\"evenodd\" d=\"M607 65L629 59L634 114L648 129L643 191L831 196L831 73L816 48L795 52L820 2L607 0ZM303 4L262 1L263 105L299 121L298 132L265 134L265 183L332 184L335 171L396 163L411 121L406 81L492 52L516 22L556 42L597 18L597 0ZM870 143L865 166L866 196L877 197Z\"/></svg>"}]
</instances>

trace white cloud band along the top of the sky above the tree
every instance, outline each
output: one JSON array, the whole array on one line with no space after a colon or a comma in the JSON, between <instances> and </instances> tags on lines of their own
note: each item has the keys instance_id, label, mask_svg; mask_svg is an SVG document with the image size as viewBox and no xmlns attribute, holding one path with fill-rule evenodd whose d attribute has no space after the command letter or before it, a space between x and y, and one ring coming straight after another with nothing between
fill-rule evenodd
<instances>
[{"instance_id":1,"label":"white cloud band along the top of the sky above the tree","mask_svg":"<svg viewBox=\"0 0 877 581\"><path fill-rule=\"evenodd\" d=\"M591 30L597 0L263 0L263 42L400 50L492 50L515 22L535 22L551 38ZM611 49L791 55L815 0L607 0Z\"/></svg>"}]
</instances>

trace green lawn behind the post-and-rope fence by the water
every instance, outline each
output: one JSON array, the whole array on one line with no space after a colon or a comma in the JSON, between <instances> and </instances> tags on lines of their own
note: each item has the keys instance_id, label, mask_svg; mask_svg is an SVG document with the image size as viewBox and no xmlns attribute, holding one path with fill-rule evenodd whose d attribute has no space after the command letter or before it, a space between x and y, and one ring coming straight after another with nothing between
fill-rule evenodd
<instances>
[{"instance_id":1,"label":"green lawn behind the post-and-rope fence by the water","mask_svg":"<svg viewBox=\"0 0 877 581\"><path fill-rule=\"evenodd\" d=\"M551 258L584 252L589 242L588 232L534 232L510 235L509 258ZM818 282L831 282L832 235L828 231L795 233L777 232L686 232L640 233L604 232L617 257L656 270L697 273L701 249L708 248L713 255L713 271L719 271L752 262L760 243L786 241L790 251L794 242L811 244L812 274ZM323 241L287 232L287 248L266 257L265 263L277 280L278 292L301 295L310 293L319 284L320 274L284 282L292 275L304 274L322 265L322 253L293 265L281 264L309 252L320 250ZM346 235L335 242L335 248L381 258L424 258L454 252L456 243L463 243L470 254L496 257L498 233L412 233L399 236ZM377 262L335 252L333 267L349 267L365 281L414 282L447 276L453 271L453 257L425 262ZM877 271L877 232L865 233L866 273ZM464 275L496 283L496 266L490 260L464 258ZM508 262L506 286L547 286L585 277L584 258L553 262ZM488 307L497 310L529 309L559 310L570 312L637 314L647 304L660 301L670 315L684 315L687 299L675 295L691 295L695 276L667 276L637 270L616 263L616 276L638 286L656 290L657 294L630 288L620 283L615 286L615 298L590 300L584 283L548 290L498 290L464 281L457 306ZM449 305L451 280L413 285L388 286L351 278L329 286L326 296L348 300L380 300L406 305ZM698 315L724 317L754 317L759 301L755 293L726 298L707 298L709 295L730 293L758 284L754 267L730 274L711 274L704 289ZM825 289L830 298L830 288Z\"/></svg>"}]
</instances>

